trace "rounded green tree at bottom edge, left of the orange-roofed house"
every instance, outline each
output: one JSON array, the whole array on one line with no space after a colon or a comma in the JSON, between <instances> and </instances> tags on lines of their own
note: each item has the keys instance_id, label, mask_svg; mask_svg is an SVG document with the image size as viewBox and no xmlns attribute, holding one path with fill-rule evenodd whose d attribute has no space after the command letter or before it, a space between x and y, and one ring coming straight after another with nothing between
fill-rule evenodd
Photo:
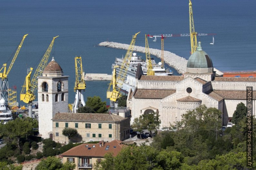
<instances>
[{"instance_id":1,"label":"rounded green tree at bottom edge, left of the orange-roofed house","mask_svg":"<svg viewBox=\"0 0 256 170\"><path fill-rule=\"evenodd\" d=\"M75 164L73 163L66 162L62 164L57 157L47 157L35 167L35 170L72 170L74 168Z\"/></svg>"}]
</instances>

